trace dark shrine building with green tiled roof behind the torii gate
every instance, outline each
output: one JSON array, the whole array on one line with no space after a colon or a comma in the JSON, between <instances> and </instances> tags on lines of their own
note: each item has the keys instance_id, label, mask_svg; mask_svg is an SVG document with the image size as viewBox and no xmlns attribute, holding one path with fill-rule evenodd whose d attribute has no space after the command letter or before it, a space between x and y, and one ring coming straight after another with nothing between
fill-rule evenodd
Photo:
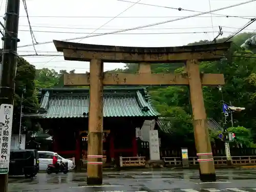
<instances>
[{"instance_id":1,"label":"dark shrine building with green tiled roof behind the torii gate","mask_svg":"<svg viewBox=\"0 0 256 192\"><path fill-rule=\"evenodd\" d=\"M51 130L54 152L63 157L87 157L90 89L41 89L40 109L34 116L41 127ZM91 106L93 107L93 106ZM104 88L103 155L136 157L136 128L159 117L146 88Z\"/></svg>"}]
</instances>

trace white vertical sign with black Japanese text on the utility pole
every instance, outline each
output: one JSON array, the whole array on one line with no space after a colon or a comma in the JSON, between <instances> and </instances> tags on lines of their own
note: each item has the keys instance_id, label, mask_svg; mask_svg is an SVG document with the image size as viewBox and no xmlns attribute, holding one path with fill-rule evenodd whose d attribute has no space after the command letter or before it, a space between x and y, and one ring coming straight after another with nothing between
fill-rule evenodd
<instances>
[{"instance_id":1,"label":"white vertical sign with black Japanese text on the utility pole","mask_svg":"<svg viewBox=\"0 0 256 192\"><path fill-rule=\"evenodd\" d=\"M13 105L0 106L0 174L8 174L12 136Z\"/></svg>"}]
</instances>

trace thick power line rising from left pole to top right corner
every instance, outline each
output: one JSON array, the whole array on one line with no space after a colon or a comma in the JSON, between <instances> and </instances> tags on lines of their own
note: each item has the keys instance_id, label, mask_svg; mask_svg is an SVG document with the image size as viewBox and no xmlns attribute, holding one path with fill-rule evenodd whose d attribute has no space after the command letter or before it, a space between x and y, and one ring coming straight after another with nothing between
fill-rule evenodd
<instances>
[{"instance_id":1,"label":"thick power line rising from left pole to top right corner","mask_svg":"<svg viewBox=\"0 0 256 192\"><path fill-rule=\"evenodd\" d=\"M224 9L228 9L228 8L232 8L232 7L236 7L236 6L240 6L240 5L244 5L244 4L248 4L248 3L251 3L251 2L255 2L255 1L256 0L250 0L250 1L247 1L247 2L242 2L242 3L239 3L239 4L235 4L235 5L231 5L231 6L227 6L227 7L223 7L223 8L219 8L219 9L215 9L215 10L211 10L211 11L207 11L207 12L203 12L203 13L198 13L198 14L195 14L195 15L188 15L188 16L185 16L185 17L177 18L177 19L166 20L164 22L154 23L154 24L145 25L145 26L138 26L138 27L135 27L135 28L129 28L129 29L124 29L124 30L119 30L119 31L112 31L112 32L104 33L104 34L96 34L96 35L91 35L91 36L88 36L88 37L95 37L95 36L101 36L101 35L109 35L109 34L114 34L114 33L119 33L119 32L131 31L131 30L136 30L136 29L142 29L142 28L146 28L146 27L153 27L153 26L157 26L157 25L161 25L161 24L175 22L177 20L191 18L191 17L203 15L203 14L208 14L208 13L211 13L211 12L216 12L216 11L220 11L220 10L224 10ZM75 38L69 38L69 39L62 39L62 41L84 39L84 38L88 38L88 37L84 37L84 36L83 37L75 37ZM50 43L52 43L52 41L39 42L36 45L50 44ZM29 47L29 46L32 46L32 45L29 44L29 45L18 46L18 48Z\"/></svg>"}]
</instances>

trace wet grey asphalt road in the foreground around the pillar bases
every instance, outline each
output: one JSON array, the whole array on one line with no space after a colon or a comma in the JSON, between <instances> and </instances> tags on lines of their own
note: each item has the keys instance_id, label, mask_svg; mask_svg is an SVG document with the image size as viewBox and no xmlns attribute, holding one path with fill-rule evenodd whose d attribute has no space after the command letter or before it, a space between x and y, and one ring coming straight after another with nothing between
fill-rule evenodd
<instances>
[{"instance_id":1,"label":"wet grey asphalt road in the foreground around the pillar bases","mask_svg":"<svg viewBox=\"0 0 256 192\"><path fill-rule=\"evenodd\" d=\"M102 186L88 186L86 173L39 173L33 179L10 177L8 191L148 191L148 192L256 192L256 169L217 169L217 182L202 183L198 170L141 169L103 172Z\"/></svg>"}]
</instances>

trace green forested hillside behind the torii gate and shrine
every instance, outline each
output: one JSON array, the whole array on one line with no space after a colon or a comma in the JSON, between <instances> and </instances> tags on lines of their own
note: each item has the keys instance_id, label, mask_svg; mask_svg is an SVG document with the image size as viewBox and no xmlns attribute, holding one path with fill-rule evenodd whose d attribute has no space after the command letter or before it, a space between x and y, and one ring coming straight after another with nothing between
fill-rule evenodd
<instances>
[{"instance_id":1,"label":"green forested hillside behind the torii gate and shrine","mask_svg":"<svg viewBox=\"0 0 256 192\"><path fill-rule=\"evenodd\" d=\"M246 127L243 132L246 132L248 138L256 141L256 117L253 113L256 110L256 56L250 52L242 52L240 45L250 36L249 33L242 33L237 35L232 40L232 57L221 61L202 62L201 71L205 73L223 73L225 75L226 85L223 87L223 98L226 102L231 102L235 106L243 106L246 108L241 113L234 114L234 125ZM225 39L219 39L221 42ZM207 40L194 42L191 45L209 43ZM152 65L153 73L170 73L182 72L181 63L160 63ZM31 67L33 68L33 67ZM127 63L125 69L116 69L113 72L126 72L136 73L138 65L135 63ZM63 74L68 73L66 70L58 72L49 70L47 68L35 70L33 74L35 80L35 88L48 88L48 87L62 87ZM70 73L75 73L71 71ZM17 75L19 74L19 68ZM27 79L27 78L26 78ZM31 82L33 77L30 77ZM23 79L23 84L26 85L28 80ZM220 124L223 122L221 100L222 95L217 87L204 87L205 107L208 117L218 121ZM172 138L177 142L189 142L194 138L193 126L191 124L191 108L189 104L189 92L187 87L173 86L173 87L151 87L150 93L154 100L157 110L165 117L167 117L172 126L169 131ZM20 95L20 92L18 92ZM19 98L16 97L17 103ZM29 105L32 107L37 106L36 100L29 100L32 102ZM29 108L28 108L29 109ZM27 111L25 111L26 113ZM29 121L29 120L28 120ZM28 124L28 123L27 123ZM231 126L229 123L228 126ZM28 127L33 127L28 126ZM242 129L242 128L241 128Z\"/></svg>"}]
</instances>

